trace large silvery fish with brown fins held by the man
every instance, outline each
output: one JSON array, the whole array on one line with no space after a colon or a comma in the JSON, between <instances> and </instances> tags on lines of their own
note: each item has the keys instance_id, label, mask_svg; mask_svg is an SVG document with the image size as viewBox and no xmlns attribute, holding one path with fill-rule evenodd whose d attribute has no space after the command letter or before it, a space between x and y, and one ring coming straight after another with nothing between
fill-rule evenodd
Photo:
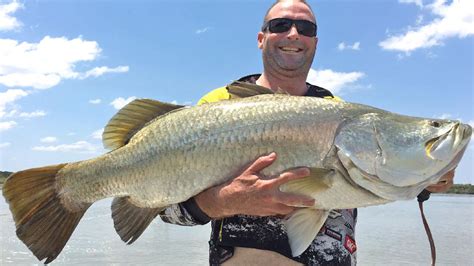
<instances>
[{"instance_id":1,"label":"large silvery fish with brown fins held by the man","mask_svg":"<svg viewBox=\"0 0 474 266\"><path fill-rule=\"evenodd\" d=\"M265 93L235 86L233 95ZM314 239L331 209L412 199L459 163L472 129L457 121L397 115L313 97L257 95L196 107L135 100L106 126L113 151L94 159L20 171L3 194L18 237L54 260L94 202L115 197L112 217L132 243L157 214L276 152L271 176L306 166L283 191L315 198L285 221L293 255Z\"/></svg>"}]
</instances>

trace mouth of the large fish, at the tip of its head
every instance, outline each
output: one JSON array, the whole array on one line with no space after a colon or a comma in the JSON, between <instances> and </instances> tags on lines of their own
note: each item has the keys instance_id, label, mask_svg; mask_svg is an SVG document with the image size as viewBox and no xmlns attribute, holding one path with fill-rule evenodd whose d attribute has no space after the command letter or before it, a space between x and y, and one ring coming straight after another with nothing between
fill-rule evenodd
<instances>
[{"instance_id":1,"label":"mouth of the large fish, at the tip of its head","mask_svg":"<svg viewBox=\"0 0 474 266\"><path fill-rule=\"evenodd\" d=\"M446 132L425 143L426 156L433 160L449 160L453 153L458 153L467 145L471 135L472 128L469 125L456 123Z\"/></svg>"}]
</instances>

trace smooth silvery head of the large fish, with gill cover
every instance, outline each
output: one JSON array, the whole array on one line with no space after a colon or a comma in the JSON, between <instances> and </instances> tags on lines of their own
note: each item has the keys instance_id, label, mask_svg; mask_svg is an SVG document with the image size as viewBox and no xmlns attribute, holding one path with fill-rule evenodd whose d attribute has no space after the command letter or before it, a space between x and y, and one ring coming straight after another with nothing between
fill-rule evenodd
<instances>
[{"instance_id":1,"label":"smooth silvery head of the large fish, with gill cover","mask_svg":"<svg viewBox=\"0 0 474 266\"><path fill-rule=\"evenodd\" d=\"M335 145L343 165L365 179L426 187L457 166L471 135L459 121L381 112L341 125Z\"/></svg>"}]
</instances>

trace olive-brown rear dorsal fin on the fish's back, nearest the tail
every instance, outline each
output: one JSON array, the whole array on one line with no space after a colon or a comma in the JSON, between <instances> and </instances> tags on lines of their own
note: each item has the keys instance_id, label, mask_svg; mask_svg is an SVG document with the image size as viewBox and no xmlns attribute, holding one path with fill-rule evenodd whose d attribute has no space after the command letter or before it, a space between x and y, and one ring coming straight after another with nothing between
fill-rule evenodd
<instances>
[{"instance_id":1,"label":"olive-brown rear dorsal fin on the fish's back, nearest the tail","mask_svg":"<svg viewBox=\"0 0 474 266\"><path fill-rule=\"evenodd\" d=\"M120 148L154 118L183 107L151 99L136 99L110 119L102 133L102 143L107 149Z\"/></svg>"}]
</instances>

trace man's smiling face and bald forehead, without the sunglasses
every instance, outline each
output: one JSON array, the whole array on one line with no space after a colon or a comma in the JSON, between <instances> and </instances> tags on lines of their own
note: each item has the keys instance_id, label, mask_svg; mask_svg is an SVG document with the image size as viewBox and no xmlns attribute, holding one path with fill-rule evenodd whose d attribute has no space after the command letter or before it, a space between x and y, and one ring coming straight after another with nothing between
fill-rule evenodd
<instances>
[{"instance_id":1,"label":"man's smiling face and bald forehead, without the sunglasses","mask_svg":"<svg viewBox=\"0 0 474 266\"><path fill-rule=\"evenodd\" d=\"M309 20L316 23L309 7L301 2L287 1L275 5L267 21L274 18ZM295 25L287 32L258 33L258 47L262 49L266 71L277 75L294 77L307 75L313 62L318 39L301 35Z\"/></svg>"}]
</instances>

